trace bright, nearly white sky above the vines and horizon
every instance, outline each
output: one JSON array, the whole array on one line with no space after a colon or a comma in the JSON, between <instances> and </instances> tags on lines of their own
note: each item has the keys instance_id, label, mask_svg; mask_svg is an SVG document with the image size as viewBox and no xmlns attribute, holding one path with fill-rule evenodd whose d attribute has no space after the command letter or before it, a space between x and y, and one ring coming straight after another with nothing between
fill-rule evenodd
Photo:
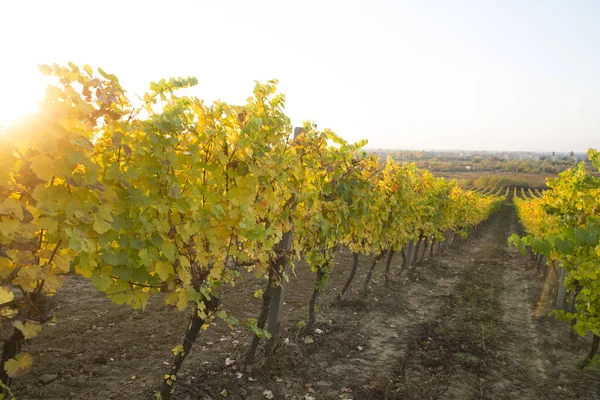
<instances>
[{"instance_id":1,"label":"bright, nearly white sky above the vines and horizon","mask_svg":"<svg viewBox=\"0 0 600 400\"><path fill-rule=\"evenodd\" d=\"M368 147L600 148L600 1L2 1L0 121L35 110L39 63L242 103L279 79L295 125Z\"/></svg>"}]
</instances>

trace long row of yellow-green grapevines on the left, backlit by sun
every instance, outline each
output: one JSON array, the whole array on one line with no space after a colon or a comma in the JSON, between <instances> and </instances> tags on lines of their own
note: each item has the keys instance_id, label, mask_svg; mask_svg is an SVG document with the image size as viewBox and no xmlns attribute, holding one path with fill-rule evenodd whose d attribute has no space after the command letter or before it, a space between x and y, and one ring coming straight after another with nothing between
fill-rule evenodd
<instances>
[{"instance_id":1,"label":"long row of yellow-green grapevines on the left, backlit by sun","mask_svg":"<svg viewBox=\"0 0 600 400\"><path fill-rule=\"evenodd\" d=\"M273 310L301 257L315 273L309 334L340 246L374 256L367 290L377 261L387 257L388 276L396 252L409 265L436 242L466 237L505 198L391 158L381 166L361 151L365 141L347 143L312 123L292 135L276 81L257 83L247 104L233 106L179 96L194 78L161 80L134 107L101 69L41 70L56 84L38 113L0 135L0 318L12 325L5 390L31 368L21 347L52 317L47 298L67 274L89 278L117 304L144 308L162 293L191 310L160 389L166 399L216 317L253 330L247 362L261 339L272 349ZM230 315L219 295L241 268L266 281L256 319Z\"/></svg>"}]
</instances>

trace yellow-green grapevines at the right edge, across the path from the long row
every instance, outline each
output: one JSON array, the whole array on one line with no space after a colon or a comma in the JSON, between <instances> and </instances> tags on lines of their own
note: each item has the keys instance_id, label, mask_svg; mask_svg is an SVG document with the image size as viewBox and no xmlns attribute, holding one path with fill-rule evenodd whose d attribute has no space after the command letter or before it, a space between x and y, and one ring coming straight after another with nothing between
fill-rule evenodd
<instances>
[{"instance_id":1,"label":"yellow-green grapevines at the right edge, across the path from the long row","mask_svg":"<svg viewBox=\"0 0 600 400\"><path fill-rule=\"evenodd\" d=\"M599 167L598 152L588 152ZM600 179L586 171L581 163L574 169L549 179L549 190L541 197L517 199L514 203L526 235L512 235L510 243L521 251L530 249L557 263L561 268L559 298L555 315L570 321L573 330L594 335L590 353L582 365L588 365L600 342ZM566 306L565 290L573 295Z\"/></svg>"}]
</instances>

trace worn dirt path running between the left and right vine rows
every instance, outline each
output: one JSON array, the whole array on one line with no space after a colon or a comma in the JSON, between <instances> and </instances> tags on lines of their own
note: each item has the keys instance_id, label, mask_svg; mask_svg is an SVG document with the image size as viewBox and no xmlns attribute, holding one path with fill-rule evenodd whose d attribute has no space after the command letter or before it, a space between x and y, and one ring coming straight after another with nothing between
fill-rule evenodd
<instances>
[{"instance_id":1,"label":"worn dirt path running between the left and right vine rows","mask_svg":"<svg viewBox=\"0 0 600 400\"><path fill-rule=\"evenodd\" d=\"M598 371L576 369L588 341L572 340L565 325L546 316L550 308L535 310L543 306L543 280L528 257L506 246L518 229L507 205L479 238L422 267L455 271L456 284L422 271L436 292L451 293L442 302L423 299L423 284L411 285L410 302L428 302L427 317L407 321L407 347L397 346L392 375L358 389L356 398L599 398Z\"/></svg>"}]
</instances>

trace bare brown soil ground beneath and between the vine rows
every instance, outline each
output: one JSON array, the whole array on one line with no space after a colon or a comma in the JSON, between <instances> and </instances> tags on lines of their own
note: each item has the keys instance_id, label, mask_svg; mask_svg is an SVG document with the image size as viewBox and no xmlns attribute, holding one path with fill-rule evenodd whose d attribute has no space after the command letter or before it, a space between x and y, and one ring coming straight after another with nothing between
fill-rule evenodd
<instances>
[{"instance_id":1,"label":"bare brown soil ground beneath and between the vine rows","mask_svg":"<svg viewBox=\"0 0 600 400\"><path fill-rule=\"evenodd\" d=\"M426 259L410 279L399 275L399 256L389 287L379 265L367 294L360 289L371 259L361 257L352 291L337 303L352 263L340 251L309 340L299 326L314 274L298 263L275 356L259 353L254 366L242 365L251 333L215 321L186 359L174 398L600 399L600 369L577 369L591 339L571 337L547 316L554 271L541 274L507 247L519 229L507 204L477 236ZM263 285L247 276L224 289L224 306L240 319L257 317L260 300L252 294ZM56 323L23 349L35 366L16 380L17 398L152 399L187 313L160 296L144 311L117 306L79 277L68 279L56 301Z\"/></svg>"}]
</instances>

